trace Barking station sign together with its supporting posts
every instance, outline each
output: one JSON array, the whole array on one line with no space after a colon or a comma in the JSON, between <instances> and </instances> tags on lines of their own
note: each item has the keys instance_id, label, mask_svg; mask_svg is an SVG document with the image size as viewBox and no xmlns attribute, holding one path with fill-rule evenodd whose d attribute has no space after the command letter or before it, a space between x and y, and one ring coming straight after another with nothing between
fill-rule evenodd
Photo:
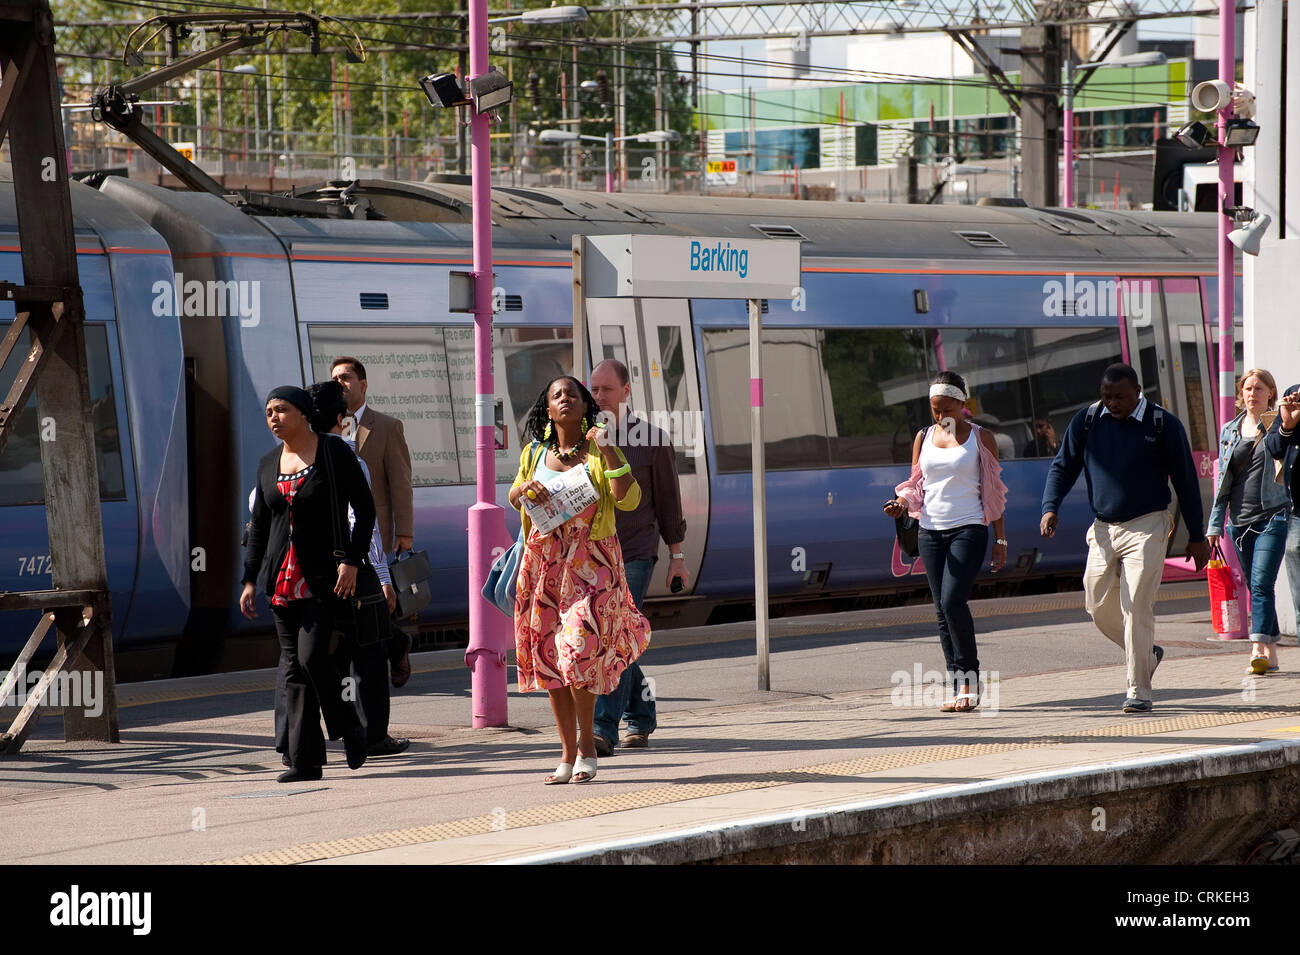
<instances>
[{"instance_id":1,"label":"Barking station sign together with its supporting posts","mask_svg":"<svg viewBox=\"0 0 1300 955\"><path fill-rule=\"evenodd\" d=\"M801 247L789 239L590 235L575 244L573 353L578 373L585 370L582 359L586 327L581 320L586 314L586 299L744 299L748 303L754 490L754 639L760 690L771 689L767 478L763 447L763 300L793 299L800 295L801 269Z\"/></svg>"}]
</instances>

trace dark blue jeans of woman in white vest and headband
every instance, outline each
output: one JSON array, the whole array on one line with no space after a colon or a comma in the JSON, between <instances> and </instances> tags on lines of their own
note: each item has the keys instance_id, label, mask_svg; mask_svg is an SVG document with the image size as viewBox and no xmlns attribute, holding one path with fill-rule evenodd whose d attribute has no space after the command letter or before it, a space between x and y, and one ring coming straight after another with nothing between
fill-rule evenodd
<instances>
[{"instance_id":1,"label":"dark blue jeans of woman in white vest and headband","mask_svg":"<svg viewBox=\"0 0 1300 955\"><path fill-rule=\"evenodd\" d=\"M979 680L979 651L975 648L970 596L988 550L988 528L980 524L952 530L922 528L918 543L930 592L935 598L939 642L944 648L948 678L954 689L959 682L970 682L974 691Z\"/></svg>"}]
</instances>

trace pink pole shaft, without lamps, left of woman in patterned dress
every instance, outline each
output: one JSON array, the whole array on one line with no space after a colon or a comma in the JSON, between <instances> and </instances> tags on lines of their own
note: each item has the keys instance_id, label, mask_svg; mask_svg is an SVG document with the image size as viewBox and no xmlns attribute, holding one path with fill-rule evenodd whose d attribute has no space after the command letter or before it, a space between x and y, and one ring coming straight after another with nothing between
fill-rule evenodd
<instances>
[{"instance_id":1,"label":"pink pole shaft, without lamps, left of woman in patterned dress","mask_svg":"<svg viewBox=\"0 0 1300 955\"><path fill-rule=\"evenodd\" d=\"M488 0L471 0L469 75L488 71ZM474 474L477 498L469 508L469 647L472 726L504 726L506 652L512 625L482 599L493 547L510 547L506 515L497 504L495 385L491 369L491 155L488 116L469 123L469 175L473 195L474 274Z\"/></svg>"}]
</instances>

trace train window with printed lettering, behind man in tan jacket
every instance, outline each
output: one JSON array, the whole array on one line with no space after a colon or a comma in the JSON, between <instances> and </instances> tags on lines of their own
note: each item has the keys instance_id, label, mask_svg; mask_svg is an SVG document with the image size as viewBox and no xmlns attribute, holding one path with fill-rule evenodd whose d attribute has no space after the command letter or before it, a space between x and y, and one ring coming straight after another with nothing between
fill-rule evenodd
<instances>
[{"instance_id":1,"label":"train window with printed lettering, behind man in tan jacket","mask_svg":"<svg viewBox=\"0 0 1300 955\"><path fill-rule=\"evenodd\" d=\"M308 329L312 374L328 378L338 355L365 365L367 403L400 418L411 450L416 487L474 481L474 330L448 326L343 326ZM495 329L497 386L506 386L507 429L517 438L546 382L567 374L573 344L569 329ZM508 439L507 439L508 440ZM515 477L519 447L497 452L497 477Z\"/></svg>"}]
</instances>

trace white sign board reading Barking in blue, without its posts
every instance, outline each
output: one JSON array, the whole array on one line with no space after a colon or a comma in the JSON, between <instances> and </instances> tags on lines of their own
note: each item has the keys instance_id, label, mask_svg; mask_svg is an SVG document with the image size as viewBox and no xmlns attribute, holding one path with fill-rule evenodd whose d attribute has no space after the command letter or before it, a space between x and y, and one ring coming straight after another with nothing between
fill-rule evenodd
<instances>
[{"instance_id":1,"label":"white sign board reading Barking in blue, without its posts","mask_svg":"<svg viewBox=\"0 0 1300 955\"><path fill-rule=\"evenodd\" d=\"M790 299L802 279L793 239L589 235L589 299Z\"/></svg>"}]
</instances>

